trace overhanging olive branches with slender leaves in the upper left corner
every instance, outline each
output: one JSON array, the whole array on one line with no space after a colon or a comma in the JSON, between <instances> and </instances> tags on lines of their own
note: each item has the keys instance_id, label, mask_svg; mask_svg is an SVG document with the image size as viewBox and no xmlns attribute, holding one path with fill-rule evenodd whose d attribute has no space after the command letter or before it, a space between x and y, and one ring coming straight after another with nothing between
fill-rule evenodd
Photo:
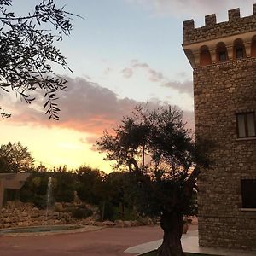
<instances>
[{"instance_id":1,"label":"overhanging olive branches with slender leaves in the upper left corner","mask_svg":"<svg viewBox=\"0 0 256 256\"><path fill-rule=\"evenodd\" d=\"M12 0L0 0L0 88L27 103L35 99L32 91L43 91L46 114L59 119L56 92L66 89L67 80L54 73L52 64L69 69L55 42L73 29L73 14L53 0L43 0L26 16L15 15L11 5ZM2 117L9 117L1 110Z\"/></svg>"}]
</instances>

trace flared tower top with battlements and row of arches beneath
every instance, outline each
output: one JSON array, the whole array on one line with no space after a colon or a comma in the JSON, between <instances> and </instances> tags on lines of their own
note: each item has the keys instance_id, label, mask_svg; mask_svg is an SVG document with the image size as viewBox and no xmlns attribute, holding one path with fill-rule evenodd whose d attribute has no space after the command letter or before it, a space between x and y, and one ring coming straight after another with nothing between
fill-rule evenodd
<instances>
[{"instance_id":1,"label":"flared tower top with battlements and row of arches beneath","mask_svg":"<svg viewBox=\"0 0 256 256\"><path fill-rule=\"evenodd\" d=\"M216 15L206 15L205 26L198 28L194 20L183 22L183 49L193 68L256 57L256 3L251 16L241 18L239 8L228 14L220 23Z\"/></svg>"}]
</instances>

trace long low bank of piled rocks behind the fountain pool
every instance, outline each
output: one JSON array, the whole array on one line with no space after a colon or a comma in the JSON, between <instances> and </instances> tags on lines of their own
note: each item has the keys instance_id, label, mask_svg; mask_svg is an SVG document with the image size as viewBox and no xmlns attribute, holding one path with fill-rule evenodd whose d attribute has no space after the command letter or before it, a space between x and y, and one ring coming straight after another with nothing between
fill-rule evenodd
<instances>
[{"instance_id":1,"label":"long low bank of piled rocks behind the fountain pool","mask_svg":"<svg viewBox=\"0 0 256 256\"><path fill-rule=\"evenodd\" d=\"M139 221L100 221L100 216L96 207L86 205L91 210L92 215L88 218L73 218L72 211L79 207L76 203L55 203L49 209L46 216L46 210L40 210L31 203L22 203L20 201L8 201L6 206L0 210L0 228L28 227L38 225L59 225L59 224L80 224L96 225L108 227L131 227L137 225L154 224L151 218L143 218Z\"/></svg>"}]
</instances>

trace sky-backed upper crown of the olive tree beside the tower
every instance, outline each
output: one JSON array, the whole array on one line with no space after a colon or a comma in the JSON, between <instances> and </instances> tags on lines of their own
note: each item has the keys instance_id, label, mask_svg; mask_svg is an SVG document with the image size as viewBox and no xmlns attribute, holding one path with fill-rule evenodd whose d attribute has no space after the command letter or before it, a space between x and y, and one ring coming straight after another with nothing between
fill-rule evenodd
<instances>
[{"instance_id":1,"label":"sky-backed upper crown of the olive tree beside the tower","mask_svg":"<svg viewBox=\"0 0 256 256\"><path fill-rule=\"evenodd\" d=\"M114 160L115 168L175 177L205 158L182 121L183 113L168 106L150 111L138 106L131 117L125 117L113 132L104 132L97 142L105 160ZM113 135L112 135L113 134ZM206 164L206 163L204 163Z\"/></svg>"}]
</instances>

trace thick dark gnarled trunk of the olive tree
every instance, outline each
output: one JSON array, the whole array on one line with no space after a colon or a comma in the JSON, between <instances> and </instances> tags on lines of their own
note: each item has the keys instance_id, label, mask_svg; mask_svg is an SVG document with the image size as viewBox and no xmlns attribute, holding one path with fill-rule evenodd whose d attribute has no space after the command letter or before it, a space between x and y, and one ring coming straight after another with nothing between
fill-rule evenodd
<instances>
[{"instance_id":1,"label":"thick dark gnarled trunk of the olive tree","mask_svg":"<svg viewBox=\"0 0 256 256\"><path fill-rule=\"evenodd\" d=\"M163 212L160 221L164 230L164 240L158 248L157 256L184 256L181 237L183 235L183 214Z\"/></svg>"}]
</instances>

